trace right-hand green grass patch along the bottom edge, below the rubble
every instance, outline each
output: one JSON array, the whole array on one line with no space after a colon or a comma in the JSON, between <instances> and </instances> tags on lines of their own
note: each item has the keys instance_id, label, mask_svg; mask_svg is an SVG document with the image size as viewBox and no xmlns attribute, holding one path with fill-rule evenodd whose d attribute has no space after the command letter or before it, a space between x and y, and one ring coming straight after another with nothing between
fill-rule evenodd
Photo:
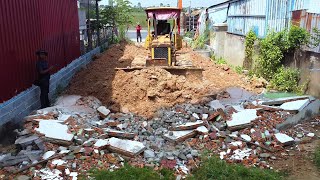
<instances>
[{"instance_id":1,"label":"right-hand green grass patch along the bottom edge, below the rubble","mask_svg":"<svg viewBox=\"0 0 320 180\"><path fill-rule=\"evenodd\" d=\"M281 173L272 170L246 168L242 165L227 164L216 157L210 157L188 179L280 180L283 178Z\"/></svg>"}]
</instances>

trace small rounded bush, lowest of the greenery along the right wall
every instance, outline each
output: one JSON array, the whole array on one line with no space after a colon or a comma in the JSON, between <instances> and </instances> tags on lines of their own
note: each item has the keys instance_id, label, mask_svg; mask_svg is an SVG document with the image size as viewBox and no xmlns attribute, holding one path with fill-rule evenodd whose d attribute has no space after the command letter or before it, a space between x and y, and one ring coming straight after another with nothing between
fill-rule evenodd
<instances>
[{"instance_id":1,"label":"small rounded bush, lowest of the greenery along the right wall","mask_svg":"<svg viewBox=\"0 0 320 180\"><path fill-rule=\"evenodd\" d=\"M299 71L292 68L279 68L270 81L270 88L278 91L297 92L299 90Z\"/></svg>"}]
</instances>

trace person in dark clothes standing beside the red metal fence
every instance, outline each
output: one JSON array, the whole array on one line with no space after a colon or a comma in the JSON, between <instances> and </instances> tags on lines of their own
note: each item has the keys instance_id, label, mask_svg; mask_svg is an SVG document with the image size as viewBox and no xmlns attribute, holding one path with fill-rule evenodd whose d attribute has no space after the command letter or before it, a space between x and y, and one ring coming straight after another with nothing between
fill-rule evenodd
<instances>
[{"instance_id":1,"label":"person in dark clothes standing beside the red metal fence","mask_svg":"<svg viewBox=\"0 0 320 180\"><path fill-rule=\"evenodd\" d=\"M50 106L49 101L49 86L50 86L50 71L53 70L53 66L49 67L47 61L48 52L45 50L39 50L36 52L38 56L38 61L36 64L38 80L36 85L40 87L40 102L41 108L46 108Z\"/></svg>"}]
</instances>

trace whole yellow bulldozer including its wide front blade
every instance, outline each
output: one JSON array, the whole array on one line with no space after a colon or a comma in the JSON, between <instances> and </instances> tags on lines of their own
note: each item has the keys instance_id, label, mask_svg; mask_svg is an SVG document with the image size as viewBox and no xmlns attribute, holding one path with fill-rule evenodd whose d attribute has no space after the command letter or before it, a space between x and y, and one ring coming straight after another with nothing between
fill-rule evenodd
<instances>
[{"instance_id":1,"label":"whole yellow bulldozer including its wide front blade","mask_svg":"<svg viewBox=\"0 0 320 180\"><path fill-rule=\"evenodd\" d=\"M160 67L176 75L190 74L202 78L202 68L193 66L177 66L178 50L182 48L180 35L181 8L159 7L147 8L148 34L145 47L149 50L147 58L137 57L131 67L117 68L117 70L134 71L153 66ZM143 63L140 63L140 62ZM134 65L133 65L134 64Z\"/></svg>"}]
</instances>

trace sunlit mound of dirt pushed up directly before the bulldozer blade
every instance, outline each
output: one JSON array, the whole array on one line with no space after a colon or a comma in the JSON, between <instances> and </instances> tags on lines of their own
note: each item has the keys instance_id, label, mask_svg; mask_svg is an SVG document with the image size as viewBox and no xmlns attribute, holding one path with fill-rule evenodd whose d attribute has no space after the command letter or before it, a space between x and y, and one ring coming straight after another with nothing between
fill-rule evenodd
<instances>
[{"instance_id":1,"label":"sunlit mound of dirt pushed up directly before the bulldozer blade","mask_svg":"<svg viewBox=\"0 0 320 180\"><path fill-rule=\"evenodd\" d=\"M204 84L160 68L116 73L112 99L121 111L151 116L160 107L192 101L204 94Z\"/></svg>"}]
</instances>

